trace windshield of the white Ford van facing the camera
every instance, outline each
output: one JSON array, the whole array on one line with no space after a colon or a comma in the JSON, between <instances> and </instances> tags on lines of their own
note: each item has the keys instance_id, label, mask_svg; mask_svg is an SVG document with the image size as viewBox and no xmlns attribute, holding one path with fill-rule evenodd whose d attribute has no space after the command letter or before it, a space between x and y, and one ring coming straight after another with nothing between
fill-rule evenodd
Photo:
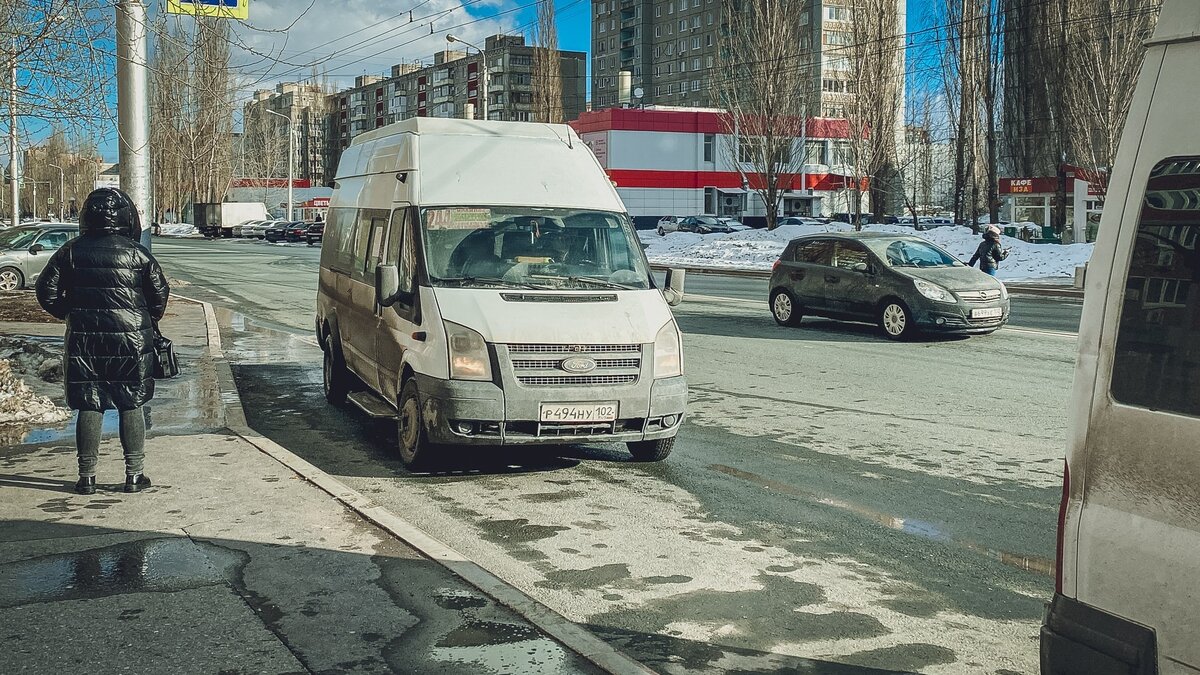
<instances>
[{"instance_id":1,"label":"windshield of the white Ford van facing the camera","mask_svg":"<svg viewBox=\"0 0 1200 675\"><path fill-rule=\"evenodd\" d=\"M536 207L421 211L434 286L650 288L642 249L623 214Z\"/></svg>"}]
</instances>

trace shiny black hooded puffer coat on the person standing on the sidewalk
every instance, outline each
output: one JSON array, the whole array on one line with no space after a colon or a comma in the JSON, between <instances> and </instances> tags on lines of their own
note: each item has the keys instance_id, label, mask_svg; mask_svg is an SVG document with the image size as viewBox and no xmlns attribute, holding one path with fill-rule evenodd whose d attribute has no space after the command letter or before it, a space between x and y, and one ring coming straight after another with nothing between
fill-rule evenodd
<instances>
[{"instance_id":1,"label":"shiny black hooded puffer coat on the person standing on the sidewalk","mask_svg":"<svg viewBox=\"0 0 1200 675\"><path fill-rule=\"evenodd\" d=\"M154 324L167 279L140 244L137 209L119 190L88 196L79 237L50 257L37 301L67 319L65 388L74 410L133 410L154 398Z\"/></svg>"}]
</instances>

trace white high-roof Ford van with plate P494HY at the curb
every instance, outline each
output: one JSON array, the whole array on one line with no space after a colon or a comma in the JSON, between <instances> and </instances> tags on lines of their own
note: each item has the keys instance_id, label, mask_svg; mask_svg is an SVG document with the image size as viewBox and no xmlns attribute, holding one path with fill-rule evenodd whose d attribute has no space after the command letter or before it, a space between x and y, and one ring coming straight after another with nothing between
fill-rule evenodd
<instances>
[{"instance_id":1,"label":"white high-roof Ford van with plate P494HY at the curb","mask_svg":"<svg viewBox=\"0 0 1200 675\"><path fill-rule=\"evenodd\" d=\"M342 154L320 256L325 396L449 446L625 442L664 459L688 401L670 304L569 126L415 118Z\"/></svg>"}]
</instances>

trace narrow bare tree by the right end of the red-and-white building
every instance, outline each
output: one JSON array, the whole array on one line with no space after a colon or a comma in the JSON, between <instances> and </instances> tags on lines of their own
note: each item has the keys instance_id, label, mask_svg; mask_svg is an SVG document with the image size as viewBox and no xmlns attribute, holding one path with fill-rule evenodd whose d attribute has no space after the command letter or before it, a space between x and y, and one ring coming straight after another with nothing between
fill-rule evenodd
<instances>
[{"instance_id":1,"label":"narrow bare tree by the right end of the red-and-white building","mask_svg":"<svg viewBox=\"0 0 1200 675\"><path fill-rule=\"evenodd\" d=\"M896 169L898 133L904 113L904 26L896 0L847 0L850 44L834 50L845 65L853 96L846 100L851 169L858 184L869 181L876 219L900 191ZM862 227L862 199L854 222Z\"/></svg>"}]
</instances>

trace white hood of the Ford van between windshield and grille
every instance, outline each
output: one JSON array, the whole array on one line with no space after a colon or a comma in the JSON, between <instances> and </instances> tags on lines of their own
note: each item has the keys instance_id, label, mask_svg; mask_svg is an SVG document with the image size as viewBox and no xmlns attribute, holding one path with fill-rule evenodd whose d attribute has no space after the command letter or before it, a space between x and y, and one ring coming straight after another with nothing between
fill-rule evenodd
<instances>
[{"instance_id":1,"label":"white hood of the Ford van between windshield and grille","mask_svg":"<svg viewBox=\"0 0 1200 675\"><path fill-rule=\"evenodd\" d=\"M674 321L662 293L649 291L571 292L576 297L616 298L587 303L510 301L520 289L438 288L443 318L470 325L488 342L558 345L643 345ZM536 297L533 293L529 295ZM530 340L529 327L553 325L542 339Z\"/></svg>"}]
</instances>

